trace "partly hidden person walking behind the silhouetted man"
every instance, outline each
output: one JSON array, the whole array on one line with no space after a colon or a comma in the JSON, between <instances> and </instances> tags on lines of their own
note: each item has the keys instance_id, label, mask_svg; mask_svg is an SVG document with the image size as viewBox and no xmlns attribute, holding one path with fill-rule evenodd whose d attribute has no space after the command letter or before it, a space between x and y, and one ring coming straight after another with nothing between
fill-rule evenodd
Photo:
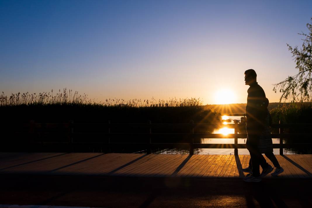
<instances>
[{"instance_id":1,"label":"partly hidden person walking behind the silhouetted man","mask_svg":"<svg viewBox=\"0 0 312 208\"><path fill-rule=\"evenodd\" d=\"M269 104L269 101L267 100L267 105ZM267 107L267 106L266 106ZM271 173L272 176L277 176L278 174L284 172L283 167L280 166L280 163L277 161L275 155L273 154L273 143L272 143L272 137L271 137L271 115L270 112L267 111L267 116L265 120L265 129L262 132L260 136L260 142L259 142L259 150L260 153L264 153L269 160L273 163L275 167L275 171ZM251 159L249 160L249 166L242 169L243 172L248 172L252 174L252 162Z\"/></svg>"}]
</instances>

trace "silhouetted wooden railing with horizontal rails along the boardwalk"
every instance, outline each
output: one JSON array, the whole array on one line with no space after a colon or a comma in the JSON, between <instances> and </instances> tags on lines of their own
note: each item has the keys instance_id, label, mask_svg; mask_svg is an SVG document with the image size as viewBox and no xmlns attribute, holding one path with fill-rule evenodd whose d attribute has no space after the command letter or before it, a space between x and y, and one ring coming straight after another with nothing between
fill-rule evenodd
<instances>
[{"instance_id":1,"label":"silhouetted wooden railing with horizontal rails along the boardwalk","mask_svg":"<svg viewBox=\"0 0 312 208\"><path fill-rule=\"evenodd\" d=\"M238 144L238 138L246 138L246 133L239 133L239 129L245 128L246 124L212 124L212 123L152 123L148 121L147 123L74 123L70 120L68 123L35 123L33 120L28 124L25 124L26 128L29 128L28 135L30 138L30 143L43 143L40 141L40 138L44 138L47 134L57 138L60 134L65 134L68 138L66 142L44 142L44 143L69 143L70 146L75 143L80 144L104 144L108 147L113 147L116 145L144 145L146 147L146 152L150 153L153 148L184 148L190 149L190 154L193 154L195 148L234 148L234 154L238 154L239 148L246 148L245 144ZM100 132L81 132L79 129L92 127L100 130ZM194 129L212 129L212 128L234 128L234 134L214 134L214 133L196 133ZM279 148L280 154L283 154L283 148L302 148L311 146L310 143L283 143L283 139L287 138L312 138L310 133L295 133L289 134L284 133L285 128L302 128L302 127L312 127L312 123L278 123L272 124L271 128L278 128L279 133L272 133L272 138L279 138L279 144L273 144L273 148ZM63 128L67 129L63 132L49 132L51 128ZM143 128L146 129L145 133L116 133L112 129L122 129L122 128ZM155 128L182 128L189 129L189 133L154 133L153 129ZM40 129L38 132L36 130ZM90 128L89 128L90 129ZM90 142L90 141L76 141L77 137L100 137L101 142ZM35 139L36 138L36 139ZM39 139L38 139L39 138ZM118 142L118 138L127 138L129 142ZM146 139L144 142L132 142L132 139ZM158 143L157 140L162 139L172 139L172 138L183 138L183 143ZM194 143L194 139L199 138L234 138L234 144L203 144L203 143Z\"/></svg>"}]
</instances>

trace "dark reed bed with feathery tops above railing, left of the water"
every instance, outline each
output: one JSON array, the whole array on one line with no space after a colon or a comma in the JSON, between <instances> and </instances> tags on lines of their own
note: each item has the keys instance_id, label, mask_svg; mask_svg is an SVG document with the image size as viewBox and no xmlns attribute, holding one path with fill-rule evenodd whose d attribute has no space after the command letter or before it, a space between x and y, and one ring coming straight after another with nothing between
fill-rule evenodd
<instances>
[{"instance_id":1,"label":"dark reed bed with feathery tops above railing, left of the water","mask_svg":"<svg viewBox=\"0 0 312 208\"><path fill-rule=\"evenodd\" d=\"M3 121L29 122L76 122L106 123L216 123L220 113L202 105L198 98L186 99L89 99L66 88L35 93L0 95Z\"/></svg>"}]
</instances>

